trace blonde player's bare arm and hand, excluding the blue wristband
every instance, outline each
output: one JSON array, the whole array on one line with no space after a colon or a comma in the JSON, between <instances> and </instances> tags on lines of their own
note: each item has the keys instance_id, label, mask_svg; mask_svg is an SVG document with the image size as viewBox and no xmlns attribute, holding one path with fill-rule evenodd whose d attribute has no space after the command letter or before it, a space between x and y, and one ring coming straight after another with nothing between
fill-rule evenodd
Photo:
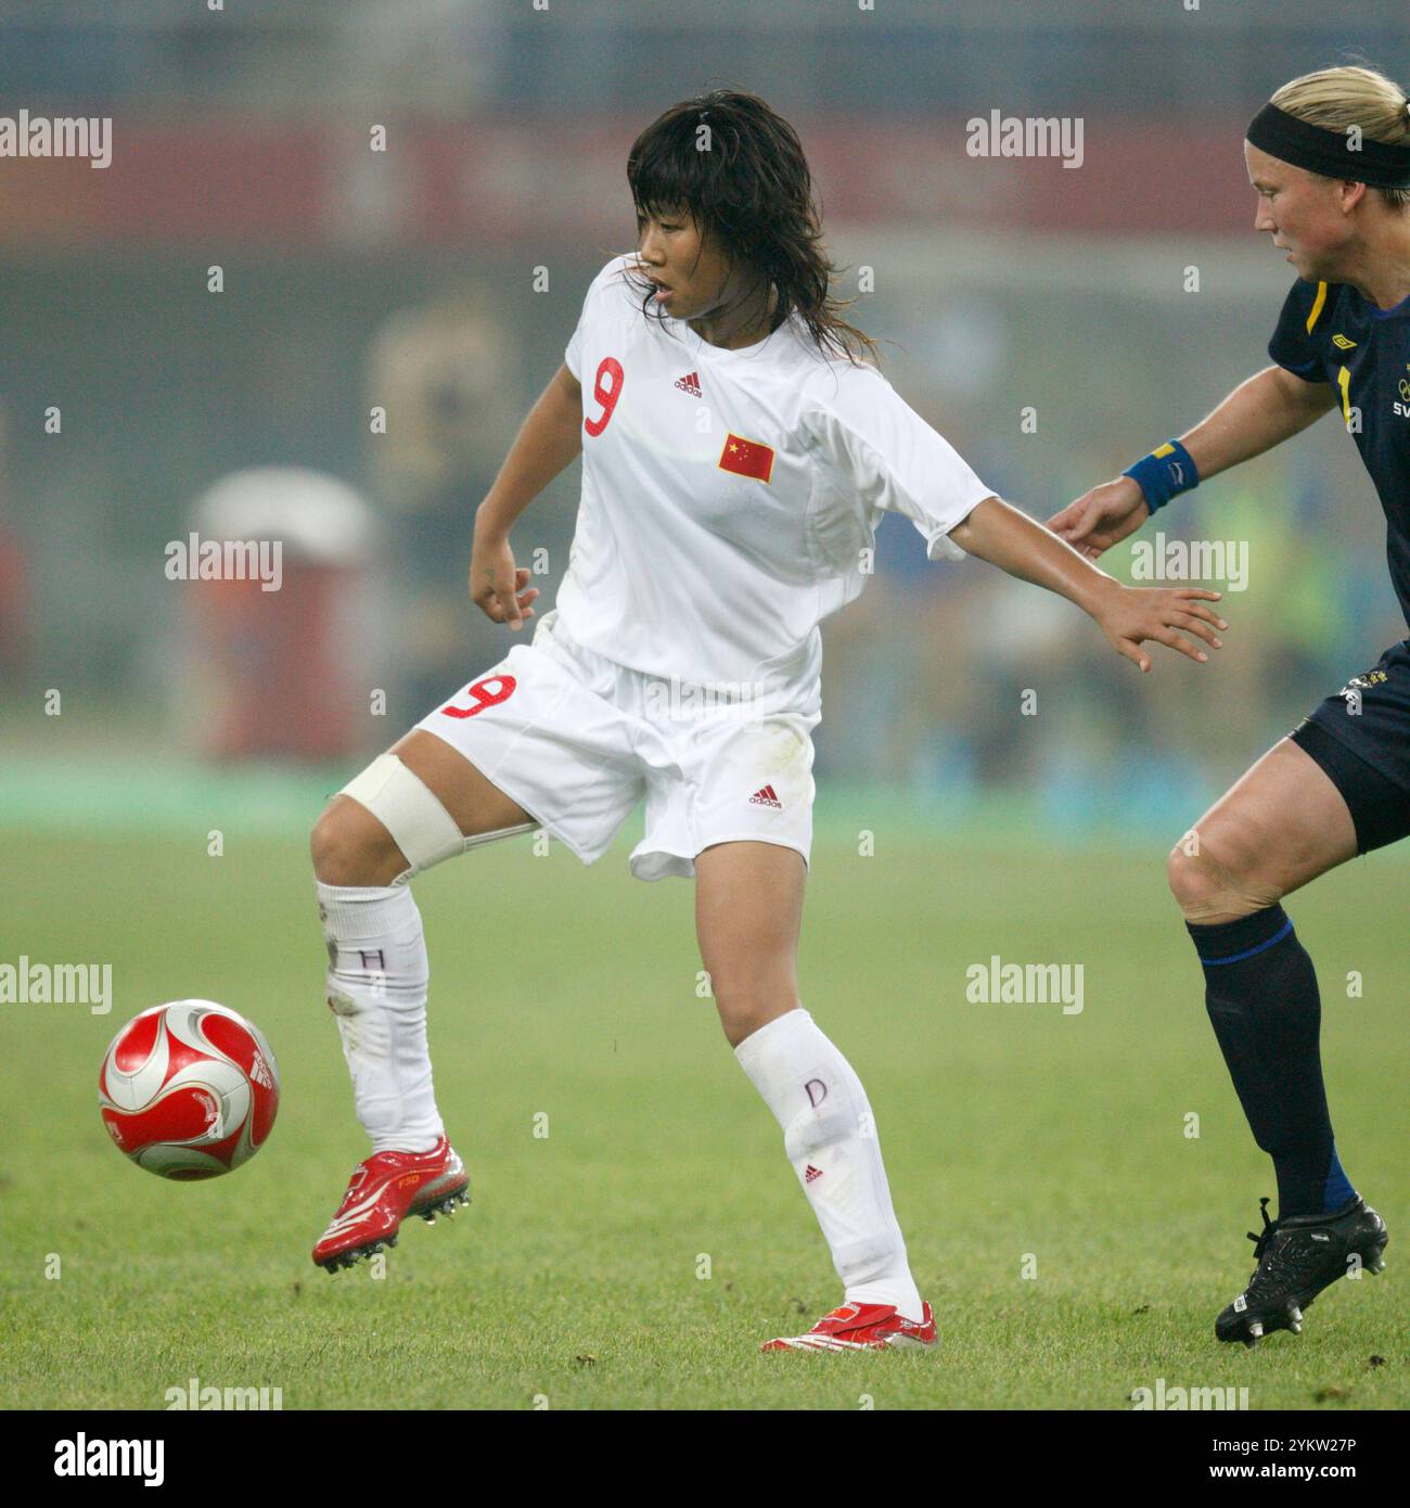
<instances>
[{"instance_id":1,"label":"blonde player's bare arm and hand, excluding the blue wristband","mask_svg":"<svg viewBox=\"0 0 1410 1508\"><path fill-rule=\"evenodd\" d=\"M1179 443L1200 480L1262 455L1336 407L1326 382L1304 382L1283 366L1265 366L1234 392ZM1151 517L1134 477L1104 481L1048 519L1048 528L1087 559L1096 559Z\"/></svg>"}]
</instances>

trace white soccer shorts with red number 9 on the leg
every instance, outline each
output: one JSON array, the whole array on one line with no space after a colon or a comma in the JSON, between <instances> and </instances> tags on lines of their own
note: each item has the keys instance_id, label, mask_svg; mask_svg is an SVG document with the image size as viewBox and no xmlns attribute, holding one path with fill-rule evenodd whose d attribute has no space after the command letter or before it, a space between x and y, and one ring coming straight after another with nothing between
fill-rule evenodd
<instances>
[{"instance_id":1,"label":"white soccer shorts with red number 9 on the leg","mask_svg":"<svg viewBox=\"0 0 1410 1508\"><path fill-rule=\"evenodd\" d=\"M627 670L540 620L510 653L416 724L458 749L578 855L602 858L645 798L638 879L689 878L712 843L813 844L819 683L683 686Z\"/></svg>"}]
</instances>

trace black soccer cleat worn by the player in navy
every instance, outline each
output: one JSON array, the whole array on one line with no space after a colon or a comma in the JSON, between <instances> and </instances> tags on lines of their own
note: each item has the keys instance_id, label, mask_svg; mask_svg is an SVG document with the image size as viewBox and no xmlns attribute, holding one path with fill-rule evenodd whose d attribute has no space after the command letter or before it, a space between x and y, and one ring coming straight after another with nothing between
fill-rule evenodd
<instances>
[{"instance_id":1,"label":"black soccer cleat worn by the player in navy","mask_svg":"<svg viewBox=\"0 0 1410 1508\"><path fill-rule=\"evenodd\" d=\"M1386 1267L1386 1221L1353 1194L1341 1209L1324 1215L1268 1218L1268 1200L1261 1199L1262 1235L1249 1232L1258 1268L1249 1286L1214 1321L1220 1341L1243 1341L1255 1347L1274 1330L1300 1335L1303 1310L1339 1277L1365 1268Z\"/></svg>"}]
</instances>

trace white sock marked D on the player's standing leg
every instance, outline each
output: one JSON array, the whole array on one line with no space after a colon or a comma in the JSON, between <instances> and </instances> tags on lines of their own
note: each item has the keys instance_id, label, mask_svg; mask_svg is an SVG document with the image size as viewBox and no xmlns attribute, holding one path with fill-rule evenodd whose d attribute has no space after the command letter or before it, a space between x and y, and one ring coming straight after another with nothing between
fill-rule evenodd
<instances>
[{"instance_id":1,"label":"white sock marked D on the player's standing leg","mask_svg":"<svg viewBox=\"0 0 1410 1508\"><path fill-rule=\"evenodd\" d=\"M734 1056L783 1126L846 1301L894 1304L903 1320L920 1321L876 1123L852 1065L801 1009L746 1036Z\"/></svg>"}]
</instances>

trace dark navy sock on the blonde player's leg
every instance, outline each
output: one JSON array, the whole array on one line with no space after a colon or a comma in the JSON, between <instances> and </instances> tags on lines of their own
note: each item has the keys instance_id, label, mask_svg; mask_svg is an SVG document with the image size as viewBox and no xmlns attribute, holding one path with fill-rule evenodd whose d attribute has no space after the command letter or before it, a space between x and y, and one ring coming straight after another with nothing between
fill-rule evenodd
<instances>
[{"instance_id":1,"label":"dark navy sock on the blonde player's leg","mask_svg":"<svg viewBox=\"0 0 1410 1508\"><path fill-rule=\"evenodd\" d=\"M1277 1214L1324 1214L1354 1196L1336 1157L1318 1048L1317 971L1282 906L1187 921L1205 1007L1258 1145L1277 1173Z\"/></svg>"}]
</instances>

